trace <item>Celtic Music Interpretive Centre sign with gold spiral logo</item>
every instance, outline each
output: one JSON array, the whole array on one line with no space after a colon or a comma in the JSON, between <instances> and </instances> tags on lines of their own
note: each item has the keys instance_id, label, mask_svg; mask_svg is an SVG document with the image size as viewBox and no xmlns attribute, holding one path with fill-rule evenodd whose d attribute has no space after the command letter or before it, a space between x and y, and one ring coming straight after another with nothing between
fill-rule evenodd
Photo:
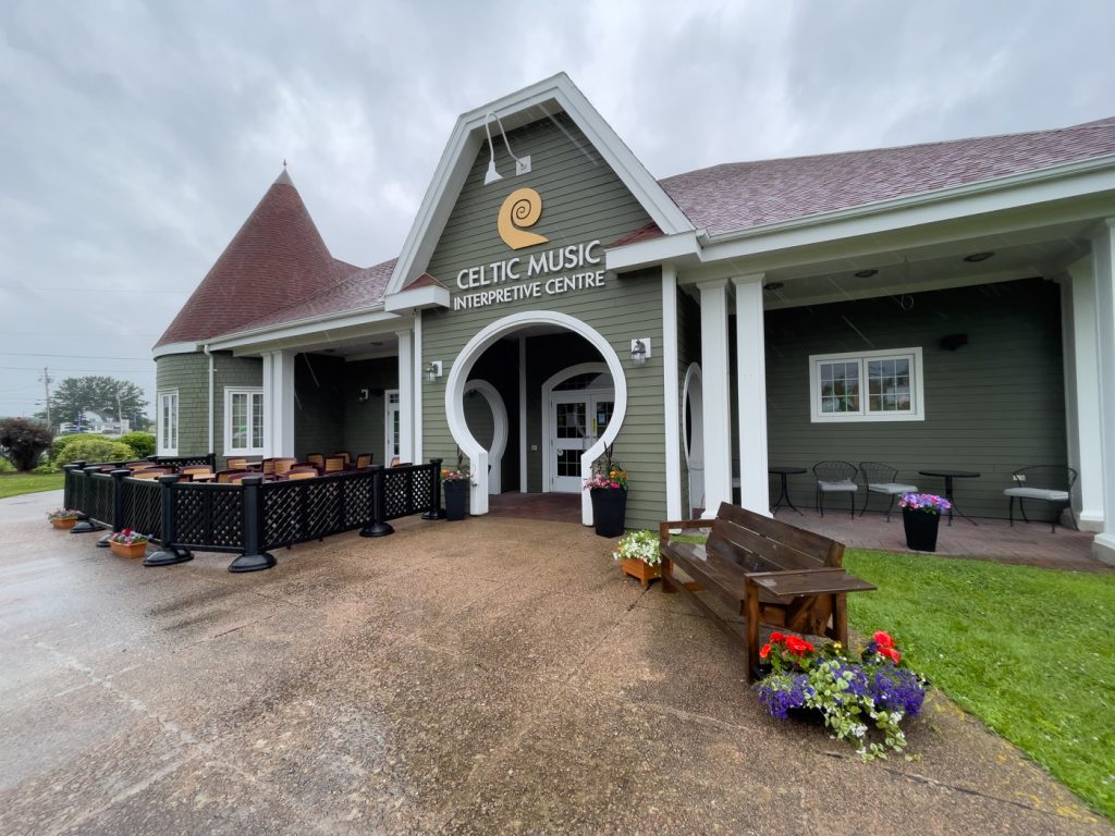
<instances>
[{"instance_id":1,"label":"Celtic Music Interpretive Centre sign with gold spiral logo","mask_svg":"<svg viewBox=\"0 0 1115 836\"><path fill-rule=\"evenodd\" d=\"M496 229L512 250L544 244L550 239L526 226L542 216L542 196L533 188L517 188L500 206ZM457 286L463 291L453 300L453 310L487 308L517 302L521 299L555 297L570 291L604 286L604 271L593 266L604 260L600 241L559 246L526 257L513 256L457 273ZM574 272L576 271L576 272ZM562 275L553 275L562 273ZM550 276L545 279L545 276ZM535 281L532 281L535 280Z\"/></svg>"}]
</instances>

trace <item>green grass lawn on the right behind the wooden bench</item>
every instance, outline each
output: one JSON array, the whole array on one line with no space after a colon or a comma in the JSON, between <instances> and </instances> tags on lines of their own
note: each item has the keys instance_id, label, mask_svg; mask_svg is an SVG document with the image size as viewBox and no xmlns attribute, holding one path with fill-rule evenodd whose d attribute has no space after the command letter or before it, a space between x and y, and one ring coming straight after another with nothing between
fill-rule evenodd
<instances>
[{"instance_id":1,"label":"green grass lawn on the right behind the wooden bench","mask_svg":"<svg viewBox=\"0 0 1115 836\"><path fill-rule=\"evenodd\" d=\"M853 628L1115 819L1115 575L850 550Z\"/></svg>"}]
</instances>

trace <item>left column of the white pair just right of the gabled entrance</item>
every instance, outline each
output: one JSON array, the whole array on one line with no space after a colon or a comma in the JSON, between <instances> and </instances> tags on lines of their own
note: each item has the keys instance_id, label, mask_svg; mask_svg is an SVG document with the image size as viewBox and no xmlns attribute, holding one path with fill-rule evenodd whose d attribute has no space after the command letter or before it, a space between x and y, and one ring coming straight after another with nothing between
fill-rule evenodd
<instances>
[{"instance_id":1,"label":"left column of the white pair just right of the gabled entrance","mask_svg":"<svg viewBox=\"0 0 1115 836\"><path fill-rule=\"evenodd\" d=\"M731 404L728 388L728 280L699 282L700 364L705 385L705 513L731 502Z\"/></svg>"}]
</instances>

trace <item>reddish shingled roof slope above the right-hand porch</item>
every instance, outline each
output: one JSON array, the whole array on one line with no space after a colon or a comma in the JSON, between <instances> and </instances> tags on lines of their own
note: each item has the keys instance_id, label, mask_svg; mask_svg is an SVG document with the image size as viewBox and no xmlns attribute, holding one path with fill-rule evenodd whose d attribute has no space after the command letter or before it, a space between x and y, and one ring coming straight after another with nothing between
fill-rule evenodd
<instances>
[{"instance_id":1,"label":"reddish shingled roof slope above the right-hand porch","mask_svg":"<svg viewBox=\"0 0 1115 836\"><path fill-rule=\"evenodd\" d=\"M900 148L728 163L661 181L710 235L1115 154L1115 117Z\"/></svg>"}]
</instances>

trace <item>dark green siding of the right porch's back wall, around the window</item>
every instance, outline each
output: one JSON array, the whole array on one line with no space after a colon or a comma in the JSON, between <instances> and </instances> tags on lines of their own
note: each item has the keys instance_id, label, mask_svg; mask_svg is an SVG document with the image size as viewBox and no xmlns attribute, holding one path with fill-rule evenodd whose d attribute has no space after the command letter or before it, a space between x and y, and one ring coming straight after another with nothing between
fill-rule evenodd
<instances>
[{"instance_id":1,"label":"dark green siding of the right porch's back wall, around the window","mask_svg":"<svg viewBox=\"0 0 1115 836\"><path fill-rule=\"evenodd\" d=\"M919 470L977 470L981 478L956 480L959 506L970 515L1005 517L1002 490L1012 470L1067 458L1058 288L1035 279L901 301L767 312L770 463L886 461L900 469L901 480L933 493L943 493L942 479ZM949 333L968 334L968 344L940 348ZM923 352L924 421L811 422L811 354L917 346ZM789 485L795 504L814 504L812 474L792 476ZM882 503L875 498L871 507Z\"/></svg>"}]
</instances>

